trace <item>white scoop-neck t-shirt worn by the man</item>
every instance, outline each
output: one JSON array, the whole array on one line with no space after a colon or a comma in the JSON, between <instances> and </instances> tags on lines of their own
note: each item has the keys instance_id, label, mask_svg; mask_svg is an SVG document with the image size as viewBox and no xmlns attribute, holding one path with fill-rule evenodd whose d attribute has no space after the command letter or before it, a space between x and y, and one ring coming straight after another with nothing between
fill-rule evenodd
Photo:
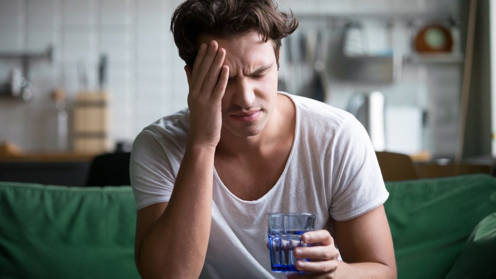
<instances>
[{"instance_id":1,"label":"white scoop-neck t-shirt worn by the man","mask_svg":"<svg viewBox=\"0 0 496 279\"><path fill-rule=\"evenodd\" d=\"M214 169L212 224L202 275L285 278L284 273L270 271L267 213L312 213L315 229L333 234L332 219L360 216L389 195L367 131L352 114L280 94L296 106L296 134L286 167L272 189L255 201L232 194ZM159 119L137 136L130 163L137 210L169 201L188 131L185 109Z\"/></svg>"}]
</instances>

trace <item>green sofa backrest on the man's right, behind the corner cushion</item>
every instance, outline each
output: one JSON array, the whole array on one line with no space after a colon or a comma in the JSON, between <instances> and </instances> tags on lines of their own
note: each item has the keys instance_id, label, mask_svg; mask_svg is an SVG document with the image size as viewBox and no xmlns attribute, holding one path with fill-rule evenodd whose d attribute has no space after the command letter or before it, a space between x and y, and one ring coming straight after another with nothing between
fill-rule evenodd
<instances>
[{"instance_id":1,"label":"green sofa backrest on the man's right, behind the corner cushion","mask_svg":"<svg viewBox=\"0 0 496 279\"><path fill-rule=\"evenodd\" d=\"M386 182L386 188L402 279L446 277L477 223L496 212L496 179L487 174Z\"/></svg>"}]
</instances>

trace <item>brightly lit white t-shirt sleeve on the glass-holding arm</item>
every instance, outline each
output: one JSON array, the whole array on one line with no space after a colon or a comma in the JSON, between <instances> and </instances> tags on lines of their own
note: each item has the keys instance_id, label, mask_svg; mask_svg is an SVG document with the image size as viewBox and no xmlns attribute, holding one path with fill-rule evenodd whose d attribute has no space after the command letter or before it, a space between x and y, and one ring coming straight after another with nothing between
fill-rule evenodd
<instances>
[{"instance_id":1,"label":"brightly lit white t-shirt sleeve on the glass-holding arm","mask_svg":"<svg viewBox=\"0 0 496 279\"><path fill-rule=\"evenodd\" d=\"M350 220L383 204L389 193L370 137L354 116L344 119L333 151L330 216Z\"/></svg>"}]
</instances>

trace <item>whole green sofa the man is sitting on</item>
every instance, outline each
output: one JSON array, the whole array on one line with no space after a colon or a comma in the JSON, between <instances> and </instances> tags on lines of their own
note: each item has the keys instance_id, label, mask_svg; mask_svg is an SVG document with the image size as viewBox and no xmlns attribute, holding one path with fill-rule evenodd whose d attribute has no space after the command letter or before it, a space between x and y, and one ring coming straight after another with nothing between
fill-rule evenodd
<instances>
[{"instance_id":1,"label":"whole green sofa the man is sitting on","mask_svg":"<svg viewBox=\"0 0 496 279\"><path fill-rule=\"evenodd\" d=\"M386 182L399 278L496 278L496 179ZM139 278L129 186L0 182L0 278Z\"/></svg>"}]
</instances>

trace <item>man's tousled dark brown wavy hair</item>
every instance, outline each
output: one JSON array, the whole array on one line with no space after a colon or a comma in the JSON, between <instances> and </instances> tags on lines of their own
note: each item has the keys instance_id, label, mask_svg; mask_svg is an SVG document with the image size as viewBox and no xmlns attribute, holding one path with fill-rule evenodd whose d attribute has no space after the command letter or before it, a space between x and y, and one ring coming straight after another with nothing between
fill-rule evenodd
<instances>
[{"instance_id":1,"label":"man's tousled dark brown wavy hair","mask_svg":"<svg viewBox=\"0 0 496 279\"><path fill-rule=\"evenodd\" d=\"M253 30L258 31L264 42L269 39L274 42L279 68L281 39L297 27L293 12L278 11L273 0L186 0L176 8L171 19L179 56L190 66L198 53L198 36L227 38Z\"/></svg>"}]
</instances>

